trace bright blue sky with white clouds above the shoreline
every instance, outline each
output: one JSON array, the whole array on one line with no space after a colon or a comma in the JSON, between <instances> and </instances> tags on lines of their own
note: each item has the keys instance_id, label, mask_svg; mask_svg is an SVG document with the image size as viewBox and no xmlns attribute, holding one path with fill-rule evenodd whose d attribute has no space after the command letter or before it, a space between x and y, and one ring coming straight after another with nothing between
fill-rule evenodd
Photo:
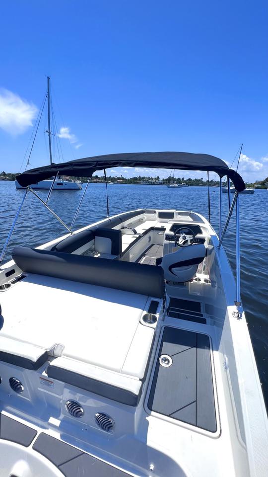
<instances>
[{"instance_id":1,"label":"bright blue sky with white clouds above the shoreline","mask_svg":"<svg viewBox=\"0 0 268 477\"><path fill-rule=\"evenodd\" d=\"M50 75L65 160L188 151L230 164L243 142L239 171L266 177L267 20L258 0L3 2L0 169L19 171ZM49 160L40 126L31 167Z\"/></svg>"}]
</instances>

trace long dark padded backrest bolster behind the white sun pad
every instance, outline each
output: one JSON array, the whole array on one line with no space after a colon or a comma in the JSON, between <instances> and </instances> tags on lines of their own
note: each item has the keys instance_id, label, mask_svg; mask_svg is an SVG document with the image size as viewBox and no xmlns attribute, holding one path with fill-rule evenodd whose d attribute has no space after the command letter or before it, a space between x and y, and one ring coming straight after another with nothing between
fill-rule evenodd
<instances>
[{"instance_id":1,"label":"long dark padded backrest bolster behind the white sun pad","mask_svg":"<svg viewBox=\"0 0 268 477\"><path fill-rule=\"evenodd\" d=\"M12 258L26 273L116 288L155 298L163 298L165 293L163 270L154 265L28 247L15 247Z\"/></svg>"}]
</instances>

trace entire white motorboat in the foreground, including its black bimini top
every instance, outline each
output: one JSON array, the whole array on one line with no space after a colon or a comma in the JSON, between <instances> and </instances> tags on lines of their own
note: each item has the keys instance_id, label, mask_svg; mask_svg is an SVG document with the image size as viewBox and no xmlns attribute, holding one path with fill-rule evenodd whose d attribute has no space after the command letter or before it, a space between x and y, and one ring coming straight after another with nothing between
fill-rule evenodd
<instances>
[{"instance_id":1,"label":"entire white motorboat in the foreground, including its black bimini top","mask_svg":"<svg viewBox=\"0 0 268 477\"><path fill-rule=\"evenodd\" d=\"M26 191L0 255L2 477L267 477L268 419L240 298L245 184L203 158L113 154L17 177ZM74 230L94 171L193 164L220 184L224 169L236 189L224 227L219 194L218 235L198 210L109 217L108 195L108 218ZM68 227L30 184L75 169L88 182ZM3 263L28 193L67 235L15 247ZM222 244L235 209L236 280Z\"/></svg>"}]
</instances>

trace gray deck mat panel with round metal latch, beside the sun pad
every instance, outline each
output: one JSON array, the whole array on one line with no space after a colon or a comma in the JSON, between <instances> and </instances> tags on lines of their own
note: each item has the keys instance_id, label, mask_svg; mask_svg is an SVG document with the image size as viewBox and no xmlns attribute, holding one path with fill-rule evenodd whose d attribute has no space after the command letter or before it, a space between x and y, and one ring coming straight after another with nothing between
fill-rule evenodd
<instances>
[{"instance_id":1,"label":"gray deck mat panel with round metal latch, beside the sun pad","mask_svg":"<svg viewBox=\"0 0 268 477\"><path fill-rule=\"evenodd\" d=\"M159 350L171 356L170 367L157 361L149 409L216 432L216 413L207 335L166 326Z\"/></svg>"}]
</instances>

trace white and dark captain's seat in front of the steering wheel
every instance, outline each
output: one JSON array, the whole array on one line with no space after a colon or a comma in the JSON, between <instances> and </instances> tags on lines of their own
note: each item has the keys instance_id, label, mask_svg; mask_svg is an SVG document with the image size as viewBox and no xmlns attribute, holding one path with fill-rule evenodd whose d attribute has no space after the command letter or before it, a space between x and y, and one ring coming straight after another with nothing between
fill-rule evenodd
<instances>
[{"instance_id":1,"label":"white and dark captain's seat in front of the steering wheel","mask_svg":"<svg viewBox=\"0 0 268 477\"><path fill-rule=\"evenodd\" d=\"M198 269L198 265L205 257L205 246L202 244L179 248L176 252L163 256L161 267L164 270L166 281L183 283L191 280ZM159 263L156 263L157 265Z\"/></svg>"}]
</instances>

